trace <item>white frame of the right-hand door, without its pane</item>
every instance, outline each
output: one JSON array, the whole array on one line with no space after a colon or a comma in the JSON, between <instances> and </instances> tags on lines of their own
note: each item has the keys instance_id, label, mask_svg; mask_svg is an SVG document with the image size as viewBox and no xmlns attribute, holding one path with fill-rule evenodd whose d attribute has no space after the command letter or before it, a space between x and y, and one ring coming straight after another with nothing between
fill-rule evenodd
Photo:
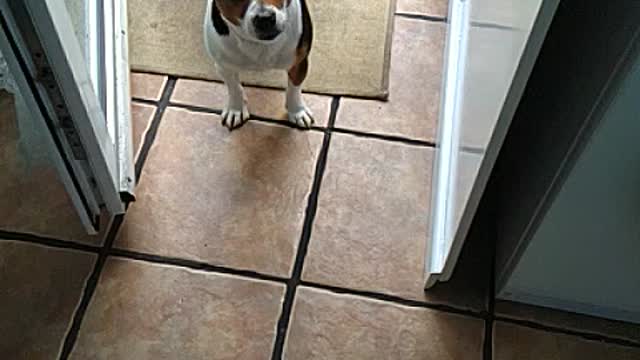
<instances>
[{"instance_id":1,"label":"white frame of the right-hand door, without its pane","mask_svg":"<svg viewBox=\"0 0 640 360\"><path fill-rule=\"evenodd\" d=\"M451 0L449 5L443 97L439 119L441 126L433 172L437 177L432 194L431 233L425 261L425 289L439 281L448 281L453 274L489 176L559 4L559 0L543 0L540 5L473 182L471 194L456 227L454 192L458 176L457 158L460 152L459 136L462 126L460 106L464 101L462 97L471 2L473 0Z\"/></svg>"}]
</instances>

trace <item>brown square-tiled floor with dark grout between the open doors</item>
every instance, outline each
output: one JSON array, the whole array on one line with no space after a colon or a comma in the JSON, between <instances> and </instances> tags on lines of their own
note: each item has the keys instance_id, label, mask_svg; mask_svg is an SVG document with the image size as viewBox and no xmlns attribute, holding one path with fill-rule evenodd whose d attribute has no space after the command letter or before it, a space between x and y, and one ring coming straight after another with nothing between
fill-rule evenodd
<instances>
[{"instance_id":1,"label":"brown square-tiled floor with dark grout between the open doors","mask_svg":"<svg viewBox=\"0 0 640 360\"><path fill-rule=\"evenodd\" d=\"M134 74L142 172L117 236L69 249L0 212L1 358L640 359L636 326L492 313L481 227L423 292L445 15L399 0L389 102L307 94L306 132L280 91L249 89L230 133L222 85ZM54 223L32 234L101 244Z\"/></svg>"}]
</instances>

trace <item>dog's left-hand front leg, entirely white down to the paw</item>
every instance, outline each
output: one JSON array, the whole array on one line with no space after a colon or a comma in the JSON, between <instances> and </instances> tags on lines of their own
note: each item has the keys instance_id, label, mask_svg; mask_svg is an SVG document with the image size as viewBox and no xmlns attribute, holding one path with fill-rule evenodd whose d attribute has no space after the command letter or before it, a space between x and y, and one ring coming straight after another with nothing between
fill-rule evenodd
<instances>
[{"instance_id":1,"label":"dog's left-hand front leg, entirely white down to the paw","mask_svg":"<svg viewBox=\"0 0 640 360\"><path fill-rule=\"evenodd\" d=\"M222 111L222 125L233 130L249 120L249 110L237 71L218 66L218 73L227 85L227 104Z\"/></svg>"}]
</instances>

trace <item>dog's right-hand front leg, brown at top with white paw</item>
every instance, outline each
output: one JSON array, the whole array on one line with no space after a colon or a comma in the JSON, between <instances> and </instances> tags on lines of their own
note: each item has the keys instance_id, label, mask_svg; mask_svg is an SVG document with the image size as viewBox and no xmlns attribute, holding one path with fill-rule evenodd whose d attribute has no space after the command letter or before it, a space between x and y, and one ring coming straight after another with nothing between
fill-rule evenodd
<instances>
[{"instance_id":1,"label":"dog's right-hand front leg, brown at top with white paw","mask_svg":"<svg viewBox=\"0 0 640 360\"><path fill-rule=\"evenodd\" d=\"M302 128L310 128L313 125L313 114L302 99L302 82L307 77L308 69L307 58L289 69L289 86L287 86L289 121Z\"/></svg>"}]
</instances>

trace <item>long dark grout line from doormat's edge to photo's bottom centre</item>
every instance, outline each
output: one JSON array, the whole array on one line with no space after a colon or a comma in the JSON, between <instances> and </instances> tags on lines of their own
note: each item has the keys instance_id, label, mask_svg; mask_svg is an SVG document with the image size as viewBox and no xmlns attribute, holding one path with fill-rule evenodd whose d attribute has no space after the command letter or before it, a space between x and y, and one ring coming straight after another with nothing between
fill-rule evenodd
<instances>
[{"instance_id":1,"label":"long dark grout line from doormat's edge to photo's bottom centre","mask_svg":"<svg viewBox=\"0 0 640 360\"><path fill-rule=\"evenodd\" d=\"M340 98L334 97L331 102L331 113L329 116L329 128L335 124L336 115L340 106ZM304 266L304 260L307 256L309 249L309 242L311 240L311 230L313 228L313 221L316 216L316 210L318 208L318 196L322 186L322 179L324 177L324 171L327 164L327 157L329 154L329 147L331 145L331 132L328 131L324 134L322 141L322 148L318 155L318 161L316 163L316 171L311 185L311 193L309 194L309 201L305 211L304 226L302 228L302 234L300 236L300 243L298 244L298 251L296 259L293 264L293 272L291 279L287 282L287 290L285 292L284 301L282 304L282 312L280 319L278 319L277 335L273 346L272 360L279 360L283 358L284 344L289 330L289 323L291 320L291 312L293 309L293 301L295 299L296 290L302 280L302 268Z\"/></svg>"}]
</instances>

